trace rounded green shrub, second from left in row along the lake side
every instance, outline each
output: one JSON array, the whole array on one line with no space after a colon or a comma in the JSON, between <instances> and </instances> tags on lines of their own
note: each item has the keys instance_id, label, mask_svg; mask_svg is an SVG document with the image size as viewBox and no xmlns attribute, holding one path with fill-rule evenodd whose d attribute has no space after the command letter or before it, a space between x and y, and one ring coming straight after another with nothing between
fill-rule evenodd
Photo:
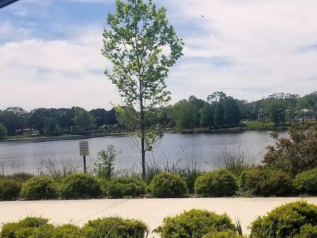
<instances>
[{"instance_id":1,"label":"rounded green shrub, second from left in row along the lake side","mask_svg":"<svg viewBox=\"0 0 317 238\"><path fill-rule=\"evenodd\" d=\"M56 182L48 177L32 177L22 185L21 196L28 200L54 199L58 196Z\"/></svg>"}]
</instances>

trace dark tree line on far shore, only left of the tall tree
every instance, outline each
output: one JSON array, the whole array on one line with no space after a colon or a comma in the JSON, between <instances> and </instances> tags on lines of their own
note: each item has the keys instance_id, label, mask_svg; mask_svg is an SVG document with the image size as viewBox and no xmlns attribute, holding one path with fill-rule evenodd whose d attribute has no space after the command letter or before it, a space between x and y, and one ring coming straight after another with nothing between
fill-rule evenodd
<instances>
[{"instance_id":1,"label":"dark tree line on far shore, only left of the tall tree","mask_svg":"<svg viewBox=\"0 0 317 238\"><path fill-rule=\"evenodd\" d=\"M110 111L94 109L90 112L80 107L38 108L27 112L23 108L13 107L0 111L0 124L5 127L8 135L22 134L26 128L36 129L40 135L53 135L114 123L117 123L114 108Z\"/></svg>"}]
</instances>

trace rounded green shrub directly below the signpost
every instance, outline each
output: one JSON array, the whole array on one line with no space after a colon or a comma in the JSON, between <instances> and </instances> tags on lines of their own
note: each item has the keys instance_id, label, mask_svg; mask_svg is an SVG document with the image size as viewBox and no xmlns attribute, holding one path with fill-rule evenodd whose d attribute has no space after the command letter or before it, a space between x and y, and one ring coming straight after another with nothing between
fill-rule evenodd
<instances>
[{"instance_id":1,"label":"rounded green shrub directly below the signpost","mask_svg":"<svg viewBox=\"0 0 317 238\"><path fill-rule=\"evenodd\" d=\"M63 198L97 198L102 194L98 179L89 174L67 175L59 185Z\"/></svg>"}]
</instances>

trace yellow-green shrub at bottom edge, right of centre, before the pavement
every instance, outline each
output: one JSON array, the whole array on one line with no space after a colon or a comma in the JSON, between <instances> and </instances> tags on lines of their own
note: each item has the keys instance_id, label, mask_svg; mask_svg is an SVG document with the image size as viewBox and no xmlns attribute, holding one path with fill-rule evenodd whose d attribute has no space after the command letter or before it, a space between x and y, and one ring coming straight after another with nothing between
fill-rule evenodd
<instances>
[{"instance_id":1,"label":"yellow-green shrub at bottom edge, right of centre, before the pavement","mask_svg":"<svg viewBox=\"0 0 317 238\"><path fill-rule=\"evenodd\" d=\"M165 217L155 229L161 238L202 238L212 232L236 231L227 214L218 215L201 209L191 209L174 217Z\"/></svg>"}]
</instances>

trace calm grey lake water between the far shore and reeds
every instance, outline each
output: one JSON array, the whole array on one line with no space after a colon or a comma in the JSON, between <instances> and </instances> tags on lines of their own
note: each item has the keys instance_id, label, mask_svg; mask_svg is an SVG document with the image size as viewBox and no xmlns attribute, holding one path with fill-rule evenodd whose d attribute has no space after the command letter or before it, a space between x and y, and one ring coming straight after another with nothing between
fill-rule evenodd
<instances>
[{"instance_id":1,"label":"calm grey lake water between the far shore and reeds","mask_svg":"<svg viewBox=\"0 0 317 238\"><path fill-rule=\"evenodd\" d=\"M265 147L273 145L275 140L270 131L253 131L228 134L164 134L153 152L147 154L147 161L155 161L162 166L169 164L192 165L202 170L210 170L222 163L221 155L226 150L230 153L245 152L260 162ZM279 136L286 136L280 132ZM56 165L62 163L83 168L83 157L79 155L79 141L89 142L90 155L86 156L88 167L98 160L97 153L112 144L121 150L115 161L116 169L140 170L140 153L131 147L130 139L120 137L99 137L46 142L0 143L0 173L12 174L29 172L39 174L46 170L48 161ZM240 149L239 149L240 148ZM89 168L88 168L89 169Z\"/></svg>"}]
</instances>

